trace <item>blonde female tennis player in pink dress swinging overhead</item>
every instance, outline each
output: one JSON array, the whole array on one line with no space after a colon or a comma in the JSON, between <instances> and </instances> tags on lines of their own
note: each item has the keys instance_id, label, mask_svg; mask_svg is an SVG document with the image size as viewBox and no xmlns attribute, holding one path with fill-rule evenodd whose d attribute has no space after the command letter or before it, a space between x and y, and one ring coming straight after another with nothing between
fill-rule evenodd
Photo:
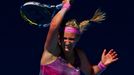
<instances>
[{"instance_id":1,"label":"blonde female tennis player in pink dress swinging overhead","mask_svg":"<svg viewBox=\"0 0 134 75\"><path fill-rule=\"evenodd\" d=\"M104 49L100 62L91 65L83 50L75 47L90 22L103 21L105 13L96 11L92 19L79 24L76 20L71 20L66 23L64 33L59 32L61 21L70 7L70 0L63 0L63 7L50 23L41 58L40 75L97 75L118 60L113 49L109 52Z\"/></svg>"}]
</instances>

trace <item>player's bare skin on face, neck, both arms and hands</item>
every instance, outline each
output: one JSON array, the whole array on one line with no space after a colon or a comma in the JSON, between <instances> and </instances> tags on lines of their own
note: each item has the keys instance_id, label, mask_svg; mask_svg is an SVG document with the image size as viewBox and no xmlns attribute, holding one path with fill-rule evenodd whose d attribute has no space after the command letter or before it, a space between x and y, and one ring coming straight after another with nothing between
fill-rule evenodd
<instances>
[{"instance_id":1,"label":"player's bare skin on face, neck, both arms and hands","mask_svg":"<svg viewBox=\"0 0 134 75\"><path fill-rule=\"evenodd\" d=\"M69 2L70 0L63 0L63 3L69 3ZM75 33L64 32L63 36L64 38L61 39L60 42L58 37L59 36L58 30L60 27L60 23L67 11L68 8L62 8L53 17L50 23L50 28L44 45L44 52L41 58L41 65L51 64L59 57L59 54L61 52L59 48L60 43L64 50L65 57L67 58L66 61L68 61L68 67L74 66L73 65L73 63L75 62L74 47L75 44L78 42L80 36L78 36L78 34ZM78 49L77 54L81 62L80 69L81 71L83 71L83 73L85 73L85 75L97 75L99 72L101 72L101 70L97 65L90 64L83 50ZM111 49L109 52L106 52L106 49L104 49L101 56L101 62L105 66L108 66L117 60L118 60L117 53L113 49Z\"/></svg>"}]
</instances>

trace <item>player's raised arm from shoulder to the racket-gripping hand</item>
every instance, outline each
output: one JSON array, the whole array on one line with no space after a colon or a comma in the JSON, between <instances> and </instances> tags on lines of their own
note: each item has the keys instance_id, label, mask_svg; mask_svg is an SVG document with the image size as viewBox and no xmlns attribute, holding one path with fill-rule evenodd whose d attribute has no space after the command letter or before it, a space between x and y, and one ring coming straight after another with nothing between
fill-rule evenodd
<instances>
[{"instance_id":1,"label":"player's raised arm from shoulder to the racket-gripping hand","mask_svg":"<svg viewBox=\"0 0 134 75\"><path fill-rule=\"evenodd\" d=\"M70 0L63 0L63 7L61 10L53 17L50 28L48 31L48 35L46 38L44 52L41 59L41 63L51 61L52 56L58 55L60 50L58 48L58 29L60 27L60 23L70 7Z\"/></svg>"}]
</instances>

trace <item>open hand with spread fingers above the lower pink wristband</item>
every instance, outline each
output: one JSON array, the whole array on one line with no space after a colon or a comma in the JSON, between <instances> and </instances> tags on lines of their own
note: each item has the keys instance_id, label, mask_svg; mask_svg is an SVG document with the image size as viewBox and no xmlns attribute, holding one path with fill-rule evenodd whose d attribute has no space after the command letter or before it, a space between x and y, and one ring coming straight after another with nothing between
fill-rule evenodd
<instances>
[{"instance_id":1,"label":"open hand with spread fingers above the lower pink wristband","mask_svg":"<svg viewBox=\"0 0 134 75\"><path fill-rule=\"evenodd\" d=\"M113 49L111 49L108 53L106 53L106 49L104 49L102 56L101 56L101 62L105 66L108 66L117 60L118 60L117 53Z\"/></svg>"}]
</instances>

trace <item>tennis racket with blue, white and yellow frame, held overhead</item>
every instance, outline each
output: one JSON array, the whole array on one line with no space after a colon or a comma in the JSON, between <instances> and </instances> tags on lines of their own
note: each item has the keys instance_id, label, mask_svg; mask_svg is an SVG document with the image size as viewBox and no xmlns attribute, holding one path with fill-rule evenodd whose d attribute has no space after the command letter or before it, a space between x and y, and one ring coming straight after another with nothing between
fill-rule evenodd
<instances>
[{"instance_id":1,"label":"tennis racket with blue, white and yellow frame, held overhead","mask_svg":"<svg viewBox=\"0 0 134 75\"><path fill-rule=\"evenodd\" d=\"M61 9L62 3L57 5L26 2L20 8L22 18L31 25L48 27L55 13Z\"/></svg>"}]
</instances>

